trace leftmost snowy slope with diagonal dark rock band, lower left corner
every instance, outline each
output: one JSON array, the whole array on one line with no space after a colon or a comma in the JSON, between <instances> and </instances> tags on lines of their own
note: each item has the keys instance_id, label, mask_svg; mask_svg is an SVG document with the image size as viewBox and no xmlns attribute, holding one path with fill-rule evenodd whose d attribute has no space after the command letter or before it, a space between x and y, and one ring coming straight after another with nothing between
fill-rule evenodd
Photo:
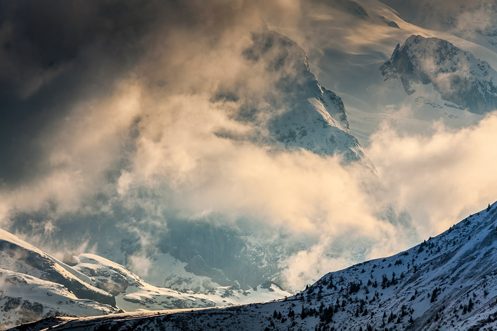
<instances>
[{"instance_id":1,"label":"leftmost snowy slope with diagonal dark rock band, lower left corner","mask_svg":"<svg viewBox=\"0 0 497 331\"><path fill-rule=\"evenodd\" d=\"M50 315L121 312L84 274L0 230L0 329Z\"/></svg>"}]
</instances>

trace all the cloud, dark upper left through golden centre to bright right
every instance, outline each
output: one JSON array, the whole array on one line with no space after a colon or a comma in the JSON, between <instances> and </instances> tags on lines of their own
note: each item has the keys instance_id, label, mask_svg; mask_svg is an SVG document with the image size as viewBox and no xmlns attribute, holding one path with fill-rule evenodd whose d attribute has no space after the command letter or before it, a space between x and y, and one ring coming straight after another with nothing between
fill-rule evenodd
<instances>
[{"instance_id":1,"label":"all the cloud, dark upper left through golden centre to bright right","mask_svg":"<svg viewBox=\"0 0 497 331\"><path fill-rule=\"evenodd\" d=\"M1 1L0 226L52 251L99 252L88 238L102 224L146 249L168 218L244 219L308 245L281 261L297 289L494 202L494 113L463 129L433 122L430 135L382 124L366 149L377 174L264 143L290 107L279 84L299 79L302 58L270 70L247 50L268 25L305 29L309 7ZM317 56L312 42L302 46ZM389 208L411 220L385 221Z\"/></svg>"}]
</instances>

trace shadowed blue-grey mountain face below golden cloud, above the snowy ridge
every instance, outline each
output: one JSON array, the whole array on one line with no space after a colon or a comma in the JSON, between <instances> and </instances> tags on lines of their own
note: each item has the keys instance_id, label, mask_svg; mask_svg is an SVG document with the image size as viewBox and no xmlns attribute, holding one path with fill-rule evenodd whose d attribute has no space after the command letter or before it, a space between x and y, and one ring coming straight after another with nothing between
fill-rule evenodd
<instances>
[{"instance_id":1,"label":"shadowed blue-grey mountain face below golden cloud, above the snowy ridge","mask_svg":"<svg viewBox=\"0 0 497 331\"><path fill-rule=\"evenodd\" d=\"M285 236L263 238L204 222L172 221L168 227L159 244L163 253L186 262L188 272L246 290L268 279L281 282L281 259L305 248ZM184 289L182 281L177 278L169 286Z\"/></svg>"}]
</instances>

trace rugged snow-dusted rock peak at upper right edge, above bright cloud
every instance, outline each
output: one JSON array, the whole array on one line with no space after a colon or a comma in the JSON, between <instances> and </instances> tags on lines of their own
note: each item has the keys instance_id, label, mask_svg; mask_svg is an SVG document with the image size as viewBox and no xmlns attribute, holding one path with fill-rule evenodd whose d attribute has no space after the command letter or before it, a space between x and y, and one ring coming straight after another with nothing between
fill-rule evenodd
<instances>
[{"instance_id":1,"label":"rugged snow-dusted rock peak at upper right edge, above bright cloud","mask_svg":"<svg viewBox=\"0 0 497 331\"><path fill-rule=\"evenodd\" d=\"M497 108L497 72L443 39L412 35L380 70L385 80L400 79L407 94L415 92L413 83L431 83L442 99L473 113Z\"/></svg>"}]
</instances>

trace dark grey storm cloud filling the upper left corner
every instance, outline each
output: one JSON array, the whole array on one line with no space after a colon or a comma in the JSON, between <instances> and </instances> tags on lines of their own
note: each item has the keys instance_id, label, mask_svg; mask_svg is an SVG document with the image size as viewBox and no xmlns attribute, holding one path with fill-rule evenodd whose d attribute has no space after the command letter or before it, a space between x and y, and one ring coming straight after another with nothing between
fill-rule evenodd
<instances>
[{"instance_id":1,"label":"dark grey storm cloud filling the upper left corner","mask_svg":"<svg viewBox=\"0 0 497 331\"><path fill-rule=\"evenodd\" d=\"M39 136L70 103L105 94L133 66L159 11L131 1L0 6L0 178L15 183L41 170Z\"/></svg>"}]
</instances>

